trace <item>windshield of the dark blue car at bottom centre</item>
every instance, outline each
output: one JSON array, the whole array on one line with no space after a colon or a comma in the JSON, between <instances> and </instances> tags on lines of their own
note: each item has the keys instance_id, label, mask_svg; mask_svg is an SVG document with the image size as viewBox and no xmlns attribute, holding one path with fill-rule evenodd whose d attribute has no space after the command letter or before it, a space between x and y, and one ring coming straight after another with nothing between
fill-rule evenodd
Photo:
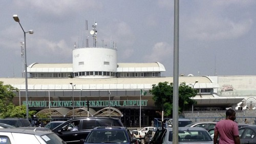
<instances>
[{"instance_id":1,"label":"windshield of the dark blue car at bottom centre","mask_svg":"<svg viewBox=\"0 0 256 144\"><path fill-rule=\"evenodd\" d=\"M86 140L87 143L125 143L127 137L124 131L101 130L92 131Z\"/></svg>"}]
</instances>

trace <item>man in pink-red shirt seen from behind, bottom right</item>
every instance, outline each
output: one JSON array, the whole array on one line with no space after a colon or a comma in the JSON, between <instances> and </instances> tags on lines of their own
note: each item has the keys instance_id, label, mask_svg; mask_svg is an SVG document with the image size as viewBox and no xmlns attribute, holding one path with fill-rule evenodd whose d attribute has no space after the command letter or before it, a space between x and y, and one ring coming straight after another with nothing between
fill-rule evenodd
<instances>
[{"instance_id":1,"label":"man in pink-red shirt seen from behind, bottom right","mask_svg":"<svg viewBox=\"0 0 256 144\"><path fill-rule=\"evenodd\" d=\"M214 144L230 143L240 144L238 124L234 122L236 119L236 112L232 109L226 111L226 119L217 122L214 130Z\"/></svg>"}]
</instances>

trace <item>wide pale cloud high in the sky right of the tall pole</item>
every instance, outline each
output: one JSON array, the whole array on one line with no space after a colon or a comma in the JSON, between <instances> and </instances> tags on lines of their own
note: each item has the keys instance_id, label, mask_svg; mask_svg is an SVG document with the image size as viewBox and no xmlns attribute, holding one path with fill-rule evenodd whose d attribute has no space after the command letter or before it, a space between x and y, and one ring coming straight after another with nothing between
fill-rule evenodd
<instances>
[{"instance_id":1,"label":"wide pale cloud high in the sky right of the tall pole","mask_svg":"<svg viewBox=\"0 0 256 144\"><path fill-rule=\"evenodd\" d=\"M251 27L251 19L236 23L231 20L195 18L184 31L188 33L186 36L190 39L215 41L239 38L245 35Z\"/></svg>"}]
</instances>

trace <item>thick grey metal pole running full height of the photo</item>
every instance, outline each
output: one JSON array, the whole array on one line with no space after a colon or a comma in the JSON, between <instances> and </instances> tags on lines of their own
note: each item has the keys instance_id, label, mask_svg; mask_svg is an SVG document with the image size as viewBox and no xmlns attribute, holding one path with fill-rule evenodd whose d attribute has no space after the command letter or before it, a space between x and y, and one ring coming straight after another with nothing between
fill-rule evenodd
<instances>
[{"instance_id":1,"label":"thick grey metal pole running full height of the photo","mask_svg":"<svg viewBox=\"0 0 256 144\"><path fill-rule=\"evenodd\" d=\"M179 134L179 0L174 1L174 87L173 87L173 143Z\"/></svg>"}]
</instances>

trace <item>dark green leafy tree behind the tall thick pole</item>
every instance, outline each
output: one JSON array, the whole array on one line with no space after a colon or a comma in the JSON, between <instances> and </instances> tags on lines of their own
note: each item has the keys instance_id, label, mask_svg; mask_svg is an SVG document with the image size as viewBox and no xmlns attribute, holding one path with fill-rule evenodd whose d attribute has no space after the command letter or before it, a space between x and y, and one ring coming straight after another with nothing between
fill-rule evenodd
<instances>
[{"instance_id":1,"label":"dark green leafy tree behind the tall thick pole","mask_svg":"<svg viewBox=\"0 0 256 144\"><path fill-rule=\"evenodd\" d=\"M153 85L150 93L153 95L155 106L164 111L165 116L170 116L173 113L173 83L160 82L158 85ZM196 101L192 99L197 95L197 90L181 83L179 85L179 113L188 110Z\"/></svg>"}]
</instances>

